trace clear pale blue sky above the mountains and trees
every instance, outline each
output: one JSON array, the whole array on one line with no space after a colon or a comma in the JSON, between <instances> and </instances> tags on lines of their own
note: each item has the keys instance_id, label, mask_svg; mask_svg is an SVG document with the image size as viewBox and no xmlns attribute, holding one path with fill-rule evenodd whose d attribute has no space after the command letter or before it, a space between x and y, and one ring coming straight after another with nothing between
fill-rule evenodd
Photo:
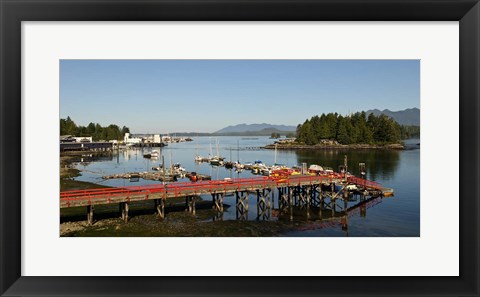
<instances>
[{"instance_id":1,"label":"clear pale blue sky above the mountains and trees","mask_svg":"<svg viewBox=\"0 0 480 297\"><path fill-rule=\"evenodd\" d=\"M61 60L60 117L132 133L420 107L418 60Z\"/></svg>"}]
</instances>

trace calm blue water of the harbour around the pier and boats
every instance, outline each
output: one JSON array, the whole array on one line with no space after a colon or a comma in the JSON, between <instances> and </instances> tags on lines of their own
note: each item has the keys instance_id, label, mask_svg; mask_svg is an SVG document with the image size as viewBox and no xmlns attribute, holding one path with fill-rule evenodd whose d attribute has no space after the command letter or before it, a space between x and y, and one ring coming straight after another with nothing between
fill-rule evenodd
<instances>
[{"instance_id":1,"label":"calm blue water of the harbour around the pier and boats","mask_svg":"<svg viewBox=\"0 0 480 297\"><path fill-rule=\"evenodd\" d=\"M208 156L212 151L218 151L226 161L239 160L241 163L261 160L267 165L275 162L274 150L263 150L261 146L272 143L268 137L194 137L192 142L172 143L161 150L166 166L171 163L180 163L187 171L195 171L211 175L212 179L225 177L252 177L250 171L236 172L234 169L214 167L208 163L196 164L196 154ZM277 150L277 163L287 166L302 164L319 164L332 167L337 171L338 165L343 164L344 155L348 156L349 171L359 175L358 163L366 163L367 179L381 183L384 187L393 188L395 196L377 199L359 212L349 216L348 230L342 230L340 220L333 224L321 224L314 218L306 219L304 211L295 210L294 228L280 232L280 236L419 236L420 235L420 149L416 144L420 141L407 141L412 149L404 151L393 150L321 150L321 151L283 151ZM144 149L149 151L150 149ZM120 151L110 156L78 157L76 167L82 170L80 181L94 182L108 186L136 186L142 184L158 184L158 181L130 182L129 180L103 180L102 175L124 172L151 171L152 166L159 166L161 158L157 160L143 158L142 149ZM188 179L180 180L188 181ZM250 196L248 220L255 223L257 220L256 198ZM203 197L211 200L210 197ZM277 195L275 195L275 199ZM349 207L359 201L350 201ZM235 198L227 196L224 203L231 207L226 208L223 214L224 221L235 221ZM278 207L275 200L275 208ZM196 219L200 222L212 222L209 217L211 210L197 210ZM167 213L167 216L169 214ZM279 221L280 220L280 221ZM270 217L270 223L289 224L282 217ZM148 229L148 227L145 227ZM149 230L137 230L138 236L148 236ZM236 236L233 234L232 236Z\"/></svg>"}]
</instances>

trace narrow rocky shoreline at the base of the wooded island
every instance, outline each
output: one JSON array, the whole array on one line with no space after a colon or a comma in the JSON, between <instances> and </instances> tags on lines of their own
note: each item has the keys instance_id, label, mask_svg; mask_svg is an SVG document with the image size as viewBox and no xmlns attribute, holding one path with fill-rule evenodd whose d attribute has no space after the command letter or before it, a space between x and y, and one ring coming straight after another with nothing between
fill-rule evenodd
<instances>
[{"instance_id":1,"label":"narrow rocky shoreline at the base of the wooded island","mask_svg":"<svg viewBox=\"0 0 480 297\"><path fill-rule=\"evenodd\" d=\"M325 150L325 149L375 149L375 150L405 150L405 146L400 143L376 145L376 144L268 144L263 149L277 149L280 150Z\"/></svg>"}]
</instances>

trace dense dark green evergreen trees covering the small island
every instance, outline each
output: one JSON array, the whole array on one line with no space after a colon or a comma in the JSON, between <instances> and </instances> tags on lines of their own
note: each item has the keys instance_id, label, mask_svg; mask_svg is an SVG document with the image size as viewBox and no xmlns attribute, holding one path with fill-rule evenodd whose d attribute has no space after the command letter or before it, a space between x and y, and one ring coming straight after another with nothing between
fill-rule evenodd
<instances>
[{"instance_id":1,"label":"dense dark green evergreen trees covering the small island","mask_svg":"<svg viewBox=\"0 0 480 297\"><path fill-rule=\"evenodd\" d=\"M297 142L320 144L334 140L340 144L390 144L420 136L420 127L402 126L380 114L357 112L349 116L337 113L316 115L297 126Z\"/></svg>"}]
</instances>

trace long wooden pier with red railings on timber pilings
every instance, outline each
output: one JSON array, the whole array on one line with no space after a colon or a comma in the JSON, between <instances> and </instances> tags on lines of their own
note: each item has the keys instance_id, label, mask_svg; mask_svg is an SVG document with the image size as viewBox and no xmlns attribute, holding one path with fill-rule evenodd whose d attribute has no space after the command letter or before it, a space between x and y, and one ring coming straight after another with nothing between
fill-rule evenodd
<instances>
[{"instance_id":1,"label":"long wooden pier with red railings on timber pilings","mask_svg":"<svg viewBox=\"0 0 480 297\"><path fill-rule=\"evenodd\" d=\"M393 194L392 189L354 176L295 175L64 191L60 193L60 208L86 207L87 221L92 224L95 205L118 203L121 217L127 222L131 202L153 200L155 212L160 218L165 218L168 199L184 198L185 210L195 214L197 197L210 195L217 218L221 219L224 198L233 195L237 219L248 220L248 200L252 197L256 198L257 219L268 220L275 205L276 192L278 209L275 212L288 214L291 220L294 207L305 209L307 218L312 215L311 208L318 210L315 215L320 218L325 211L331 212L330 216L334 217L337 212L347 212L347 203L352 195L359 195L361 201L365 201L368 197Z\"/></svg>"}]
</instances>

